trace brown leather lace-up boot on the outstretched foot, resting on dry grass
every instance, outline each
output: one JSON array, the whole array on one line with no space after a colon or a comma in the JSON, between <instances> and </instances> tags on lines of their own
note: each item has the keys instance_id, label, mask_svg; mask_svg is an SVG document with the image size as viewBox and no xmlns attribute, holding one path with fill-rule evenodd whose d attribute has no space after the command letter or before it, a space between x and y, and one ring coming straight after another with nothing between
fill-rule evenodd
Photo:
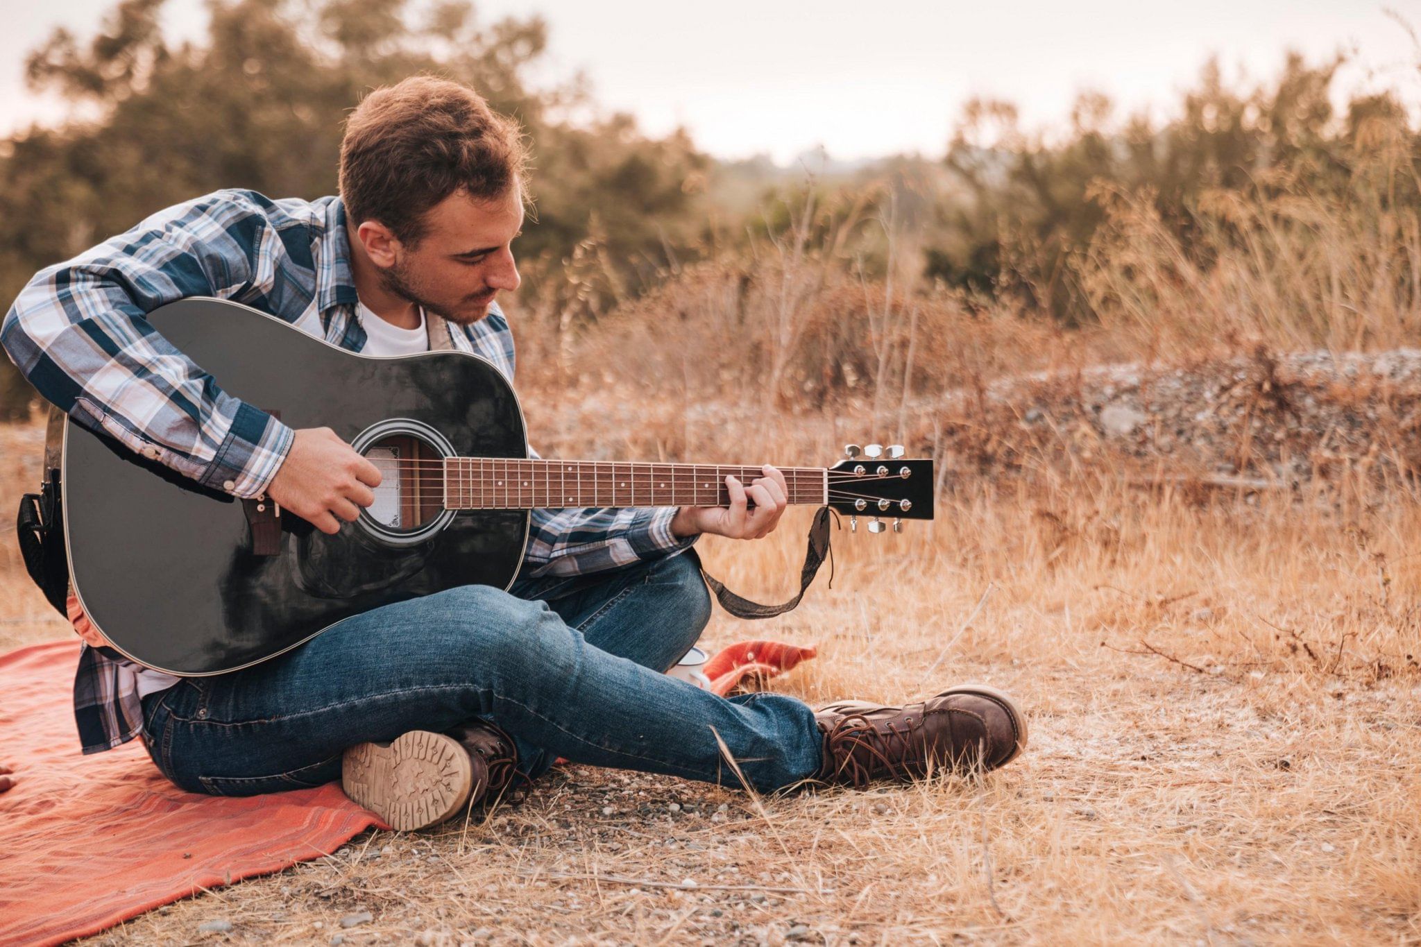
<instances>
[{"instance_id":1,"label":"brown leather lace-up boot on the outstretched foot, resting on dry grass","mask_svg":"<svg viewBox=\"0 0 1421 947\"><path fill-rule=\"evenodd\" d=\"M929 770L996 770L1026 748L1026 717L986 684L959 684L907 707L843 700L814 711L824 735L817 779L864 787Z\"/></svg>"}]
</instances>

